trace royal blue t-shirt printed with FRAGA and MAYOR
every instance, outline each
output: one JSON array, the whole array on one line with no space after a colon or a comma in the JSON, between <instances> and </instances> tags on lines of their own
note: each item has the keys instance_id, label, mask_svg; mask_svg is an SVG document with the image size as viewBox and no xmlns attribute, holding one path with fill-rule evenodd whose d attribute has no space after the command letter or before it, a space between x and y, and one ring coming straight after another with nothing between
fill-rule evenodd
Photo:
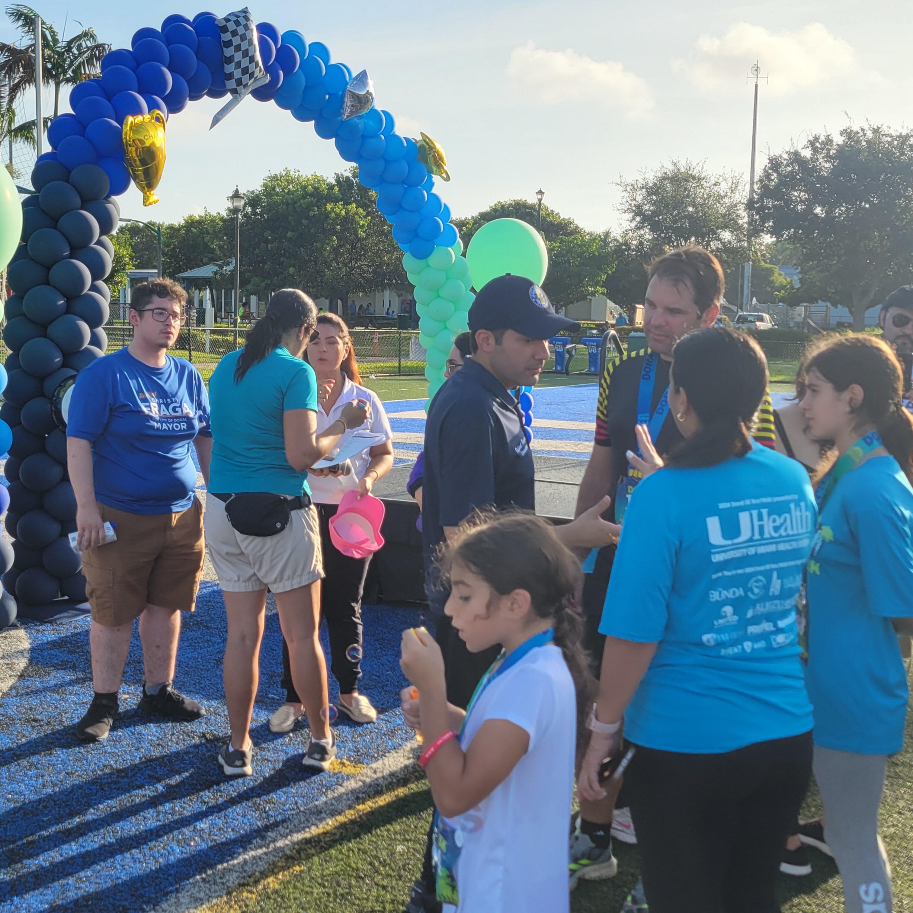
<instances>
[{"instance_id":1,"label":"royal blue t-shirt printed with FRAGA and MAYOR","mask_svg":"<svg viewBox=\"0 0 913 913\"><path fill-rule=\"evenodd\" d=\"M152 368L124 348L77 375L67 436L91 441L101 504L137 514L189 508L197 435L209 436L209 399L183 358L166 355L162 368Z\"/></svg>"}]
</instances>

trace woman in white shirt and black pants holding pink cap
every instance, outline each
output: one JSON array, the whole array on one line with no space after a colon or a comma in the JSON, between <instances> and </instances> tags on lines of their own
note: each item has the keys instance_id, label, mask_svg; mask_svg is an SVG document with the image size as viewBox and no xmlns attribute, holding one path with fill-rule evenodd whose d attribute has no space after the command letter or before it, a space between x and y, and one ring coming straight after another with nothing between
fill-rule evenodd
<instances>
[{"instance_id":1,"label":"woman in white shirt and black pants holding pink cap","mask_svg":"<svg viewBox=\"0 0 913 913\"><path fill-rule=\"evenodd\" d=\"M336 516L342 495L357 488L360 497L368 494L379 478L394 465L393 433L383 405L372 390L362 386L352 338L345 323L335 314L321 314L304 353L314 369L317 383L325 392L317 407L317 432L329 428L352 403L370 404L370 419L362 429L377 438L338 469L311 468L310 497L320 519L320 546L323 552L323 583L320 587L320 617L330 635L332 673L339 682L336 707L356 723L373 723L377 710L358 690L362 676L362 591L371 556L350 558L342 554L330 538L330 520ZM340 444L347 440L343 436ZM346 470L343 473L343 469ZM285 703L269 720L273 732L289 732L305 708L295 689L289 667L289 646L282 640L282 687Z\"/></svg>"}]
</instances>

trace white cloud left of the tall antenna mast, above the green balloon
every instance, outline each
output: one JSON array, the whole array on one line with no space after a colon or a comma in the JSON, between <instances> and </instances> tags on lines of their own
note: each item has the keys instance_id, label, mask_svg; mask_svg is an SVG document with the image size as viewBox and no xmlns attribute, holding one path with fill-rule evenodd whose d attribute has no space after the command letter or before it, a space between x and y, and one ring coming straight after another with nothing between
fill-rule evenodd
<instances>
[{"instance_id":1,"label":"white cloud left of the tall antenna mast, above the green balloon","mask_svg":"<svg viewBox=\"0 0 913 913\"><path fill-rule=\"evenodd\" d=\"M593 60L571 48L549 51L530 41L510 52L506 72L515 85L531 90L543 104L595 102L631 117L653 107L653 92L644 79L616 60Z\"/></svg>"}]
</instances>

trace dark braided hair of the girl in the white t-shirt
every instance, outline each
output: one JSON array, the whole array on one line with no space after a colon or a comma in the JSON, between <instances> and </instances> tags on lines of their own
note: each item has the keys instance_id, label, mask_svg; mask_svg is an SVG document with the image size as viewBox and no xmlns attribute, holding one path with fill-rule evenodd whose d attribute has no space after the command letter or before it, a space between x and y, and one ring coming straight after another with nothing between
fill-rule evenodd
<instances>
[{"instance_id":1,"label":"dark braided hair of the girl in the white t-shirt","mask_svg":"<svg viewBox=\"0 0 913 913\"><path fill-rule=\"evenodd\" d=\"M577 694L577 748L581 750L596 687L582 647L580 561L564 547L550 523L518 509L477 510L457 527L453 539L442 542L436 561L445 580L459 561L498 595L525 590L530 593L532 611L551 620L553 643L561 649Z\"/></svg>"}]
</instances>

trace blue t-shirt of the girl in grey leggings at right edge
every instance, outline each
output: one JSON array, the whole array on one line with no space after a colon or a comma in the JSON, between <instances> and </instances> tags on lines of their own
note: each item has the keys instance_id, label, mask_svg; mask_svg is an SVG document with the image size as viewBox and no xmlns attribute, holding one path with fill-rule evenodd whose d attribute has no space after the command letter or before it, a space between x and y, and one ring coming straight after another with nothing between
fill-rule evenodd
<instances>
[{"instance_id":1,"label":"blue t-shirt of the girl in grey leggings at right edge","mask_svg":"<svg viewBox=\"0 0 913 913\"><path fill-rule=\"evenodd\" d=\"M872 456L840 479L812 557L814 743L894 754L904 746L909 692L891 619L913 616L913 488L893 456Z\"/></svg>"}]
</instances>

